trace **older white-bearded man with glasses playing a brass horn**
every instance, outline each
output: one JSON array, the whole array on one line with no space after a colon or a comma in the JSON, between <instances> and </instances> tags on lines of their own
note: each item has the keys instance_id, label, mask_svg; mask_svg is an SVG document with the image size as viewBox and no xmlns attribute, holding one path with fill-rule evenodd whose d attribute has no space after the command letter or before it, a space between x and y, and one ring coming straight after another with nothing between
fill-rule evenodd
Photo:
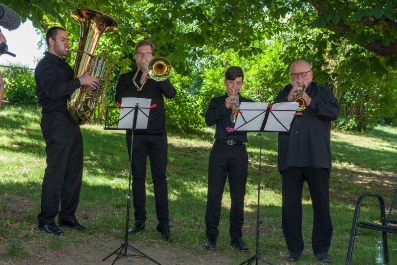
<instances>
[{"instance_id":1,"label":"older white-bearded man with glasses playing a brass horn","mask_svg":"<svg viewBox=\"0 0 397 265\"><path fill-rule=\"evenodd\" d=\"M299 260L303 251L302 189L306 181L313 209L311 247L316 259L328 263L333 231L329 200L331 121L338 117L339 103L332 90L312 81L313 72L307 61L294 61L290 77L291 83L278 93L274 102L293 101L304 84L301 98L307 107L295 118L289 133L278 135L282 228L289 250L286 259Z\"/></svg>"}]
</instances>

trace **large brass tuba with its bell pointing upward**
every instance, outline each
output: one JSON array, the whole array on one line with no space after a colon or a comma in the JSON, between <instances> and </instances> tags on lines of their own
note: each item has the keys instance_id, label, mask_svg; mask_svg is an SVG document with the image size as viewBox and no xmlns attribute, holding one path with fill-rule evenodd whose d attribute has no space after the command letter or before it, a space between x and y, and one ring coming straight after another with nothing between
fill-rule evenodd
<instances>
[{"instance_id":1,"label":"large brass tuba with its bell pointing upward","mask_svg":"<svg viewBox=\"0 0 397 265\"><path fill-rule=\"evenodd\" d=\"M108 15L89 9L76 9L70 12L70 16L80 23L80 42L75 51L73 78L82 76L90 70L93 62L91 75L100 81L98 89L89 86L81 86L69 97L67 111L70 118L77 124L89 123L93 116L95 105L101 94L101 83L106 73L106 60L100 56L94 56L99 38L105 31L118 29L117 22Z\"/></svg>"}]
</instances>

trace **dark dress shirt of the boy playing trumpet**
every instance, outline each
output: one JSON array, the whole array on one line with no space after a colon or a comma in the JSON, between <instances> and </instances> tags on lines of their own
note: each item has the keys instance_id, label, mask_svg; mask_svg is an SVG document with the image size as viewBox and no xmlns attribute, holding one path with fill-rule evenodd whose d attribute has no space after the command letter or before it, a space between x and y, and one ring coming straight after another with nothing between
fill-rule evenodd
<instances>
[{"instance_id":1,"label":"dark dress shirt of the boy playing trumpet","mask_svg":"<svg viewBox=\"0 0 397 265\"><path fill-rule=\"evenodd\" d=\"M205 123L208 126L216 124L215 128L215 139L218 140L233 140L247 143L247 132L246 131L234 131L226 132L226 127L234 127L234 124L230 120L232 113L231 108L226 108L225 99L228 97L227 93L220 97L214 97L209 102L207 112L205 113ZM239 93L239 102L254 102L249 98L244 98Z\"/></svg>"}]
</instances>

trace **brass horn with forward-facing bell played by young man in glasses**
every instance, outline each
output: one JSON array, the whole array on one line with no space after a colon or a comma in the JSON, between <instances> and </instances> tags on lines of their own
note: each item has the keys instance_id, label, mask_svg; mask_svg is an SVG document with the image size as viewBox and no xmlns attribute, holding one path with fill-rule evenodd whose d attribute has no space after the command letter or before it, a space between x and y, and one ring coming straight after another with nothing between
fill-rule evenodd
<instances>
[{"instance_id":1,"label":"brass horn with forward-facing bell played by young man in glasses","mask_svg":"<svg viewBox=\"0 0 397 265\"><path fill-rule=\"evenodd\" d=\"M134 83L138 91L142 90L143 86L147 81L147 77L146 77L140 87L138 86L138 84L136 84L135 79L140 70L143 71L147 70L147 74L149 75L149 77L155 81L164 81L171 76L172 66L170 61L167 60L166 58L156 57L152 59L149 62L149 64L147 64L147 68L146 68L146 61L142 59L141 67L136 71L134 78L132 79L132 82Z\"/></svg>"}]
</instances>

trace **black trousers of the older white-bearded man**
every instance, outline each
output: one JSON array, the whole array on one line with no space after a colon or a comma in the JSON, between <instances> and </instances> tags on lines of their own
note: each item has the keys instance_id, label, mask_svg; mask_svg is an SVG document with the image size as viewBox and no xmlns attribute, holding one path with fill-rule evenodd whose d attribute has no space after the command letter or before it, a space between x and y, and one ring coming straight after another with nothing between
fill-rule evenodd
<instances>
[{"instance_id":1,"label":"black trousers of the older white-bearded man","mask_svg":"<svg viewBox=\"0 0 397 265\"><path fill-rule=\"evenodd\" d=\"M282 227L288 250L303 250L302 189L307 181L313 209L311 247L327 252L331 245L329 179L326 168L290 167L280 172L283 188Z\"/></svg>"}]
</instances>

